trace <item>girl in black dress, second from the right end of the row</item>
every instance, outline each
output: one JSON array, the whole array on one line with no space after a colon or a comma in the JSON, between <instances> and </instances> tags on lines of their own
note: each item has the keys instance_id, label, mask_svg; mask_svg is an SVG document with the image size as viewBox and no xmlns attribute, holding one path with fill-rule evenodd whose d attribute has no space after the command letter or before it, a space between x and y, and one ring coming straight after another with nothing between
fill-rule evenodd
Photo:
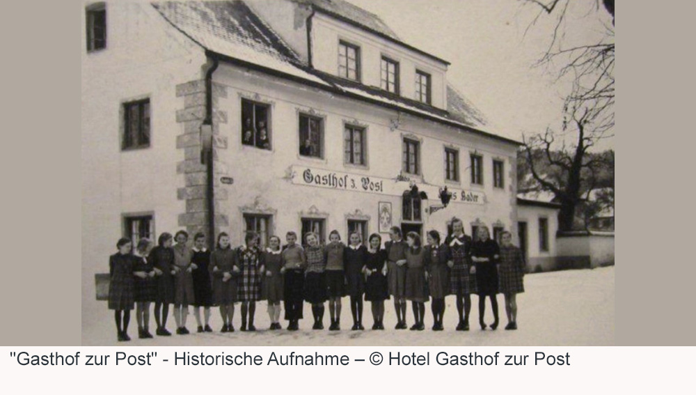
<instances>
[{"instance_id":1,"label":"girl in black dress, second from the right end of the row","mask_svg":"<svg viewBox=\"0 0 696 395\"><path fill-rule=\"evenodd\" d=\"M500 247L495 240L491 240L488 228L481 226L477 231L477 240L471 247L471 260L476 268L476 284L479 295L479 323L481 330L486 329L484 313L486 312L486 297L491 299L493 309L493 323L491 330L498 328L498 269L496 263L500 257Z\"/></svg>"}]
</instances>

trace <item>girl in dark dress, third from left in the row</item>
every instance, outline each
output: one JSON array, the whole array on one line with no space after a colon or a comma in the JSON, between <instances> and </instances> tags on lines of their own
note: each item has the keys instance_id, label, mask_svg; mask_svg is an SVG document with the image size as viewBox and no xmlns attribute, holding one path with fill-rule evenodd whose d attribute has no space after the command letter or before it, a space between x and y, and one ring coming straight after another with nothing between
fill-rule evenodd
<instances>
[{"instance_id":1,"label":"girl in dark dress, third from left in the row","mask_svg":"<svg viewBox=\"0 0 696 395\"><path fill-rule=\"evenodd\" d=\"M150 251L152 266L155 268L157 297L155 298L155 323L157 336L171 336L167 330L169 304L174 302L174 250L170 233L162 233L157 239L157 247Z\"/></svg>"}]
</instances>

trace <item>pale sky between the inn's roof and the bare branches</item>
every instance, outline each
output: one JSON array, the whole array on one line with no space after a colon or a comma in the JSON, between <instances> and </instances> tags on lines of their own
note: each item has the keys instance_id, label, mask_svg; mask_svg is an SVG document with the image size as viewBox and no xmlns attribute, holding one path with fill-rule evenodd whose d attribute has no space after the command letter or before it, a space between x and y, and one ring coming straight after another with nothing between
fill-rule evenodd
<instances>
[{"instance_id":1,"label":"pale sky between the inn's roof and the bare branches","mask_svg":"<svg viewBox=\"0 0 696 395\"><path fill-rule=\"evenodd\" d=\"M556 82L553 70L532 68L551 42L553 19L544 15L525 36L538 7L520 0L347 1L379 15L409 45L452 63L448 81L494 130L521 139L522 132L559 127L567 84ZM567 40L596 42L604 31L597 13L606 21L606 11L596 0L575 4ZM613 148L614 140L601 148Z\"/></svg>"}]
</instances>

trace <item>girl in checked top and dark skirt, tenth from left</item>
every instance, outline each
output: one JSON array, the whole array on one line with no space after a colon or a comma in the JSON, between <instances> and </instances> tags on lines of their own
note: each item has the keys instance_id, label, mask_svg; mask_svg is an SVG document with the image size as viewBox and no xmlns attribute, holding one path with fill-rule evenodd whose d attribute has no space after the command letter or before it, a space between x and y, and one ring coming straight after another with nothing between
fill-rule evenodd
<instances>
[{"instance_id":1,"label":"girl in checked top and dark skirt, tenth from left","mask_svg":"<svg viewBox=\"0 0 696 395\"><path fill-rule=\"evenodd\" d=\"M313 330L323 330L324 302L326 302L326 254L319 245L319 237L310 232L306 235L307 269L305 270L305 300L312 304Z\"/></svg>"}]
</instances>

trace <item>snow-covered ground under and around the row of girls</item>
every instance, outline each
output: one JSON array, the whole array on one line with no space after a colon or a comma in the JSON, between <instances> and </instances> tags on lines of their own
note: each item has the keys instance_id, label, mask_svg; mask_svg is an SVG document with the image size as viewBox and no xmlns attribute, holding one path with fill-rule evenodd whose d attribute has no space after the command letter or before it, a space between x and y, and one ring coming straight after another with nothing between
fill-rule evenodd
<instances>
[{"instance_id":1,"label":"snow-covered ground under and around the row of girls","mask_svg":"<svg viewBox=\"0 0 696 395\"><path fill-rule=\"evenodd\" d=\"M447 298L445 311L445 330L433 332L430 304L426 303L426 330L394 330L396 318L394 305L386 301L384 331L372 331L372 314L370 303L365 302L363 325L367 330L351 331L352 325L349 299L343 299L341 314L341 331L311 330L313 320L311 307L305 304L305 319L300 321L300 330L268 331L269 318L265 302L257 304L257 332L239 332L240 308L235 309L234 333L219 333L221 320L219 311L212 308L211 326L216 332L197 334L193 309L189 308L187 327L191 334L171 337L155 336L155 339L137 339L138 327L135 311L132 311L128 333L132 341L118 343L113 323L113 312L106 309L106 302L98 302L97 311L92 317L83 317L82 344L84 346L611 346L614 344L614 267L594 270L567 270L528 274L525 277L526 292L518 295L519 330L503 330L507 323L503 295L498 295L500 306L500 327L496 331L480 330L478 325L477 297L472 297L472 311L469 332L456 332L457 309L454 297ZM90 303L97 306L94 303ZM175 330L173 316L168 319L167 327ZM83 311L83 314L90 313ZM307 318L308 317L308 318ZM281 314L282 318L282 314ZM486 321L493 320L490 302L487 301ZM95 325L89 325L89 323ZM407 312L409 326L413 324L413 313L409 303ZM281 321L283 328L287 321ZM150 332L154 334L154 316L150 317ZM324 326L329 327L329 307L326 306Z\"/></svg>"}]
</instances>

